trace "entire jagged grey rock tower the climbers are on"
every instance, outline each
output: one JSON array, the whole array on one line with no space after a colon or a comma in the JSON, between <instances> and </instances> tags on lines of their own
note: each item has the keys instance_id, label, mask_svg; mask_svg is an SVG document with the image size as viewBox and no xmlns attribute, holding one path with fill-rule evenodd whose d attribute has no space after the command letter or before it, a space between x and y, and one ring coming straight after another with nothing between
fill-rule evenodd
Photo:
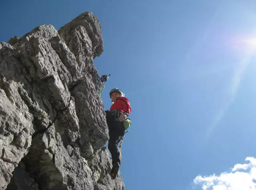
<instances>
[{"instance_id":1,"label":"entire jagged grey rock tower the climbers are on","mask_svg":"<svg viewBox=\"0 0 256 190\"><path fill-rule=\"evenodd\" d=\"M101 27L86 12L0 43L0 190L123 190L93 59Z\"/></svg>"}]
</instances>

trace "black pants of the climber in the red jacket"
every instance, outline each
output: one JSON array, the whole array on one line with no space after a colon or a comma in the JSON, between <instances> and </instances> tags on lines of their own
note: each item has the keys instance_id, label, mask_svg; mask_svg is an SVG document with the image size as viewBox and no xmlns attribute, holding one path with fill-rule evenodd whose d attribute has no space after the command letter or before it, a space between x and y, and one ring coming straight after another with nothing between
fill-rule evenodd
<instances>
[{"instance_id":1,"label":"black pants of the climber in the red jacket","mask_svg":"<svg viewBox=\"0 0 256 190\"><path fill-rule=\"evenodd\" d=\"M117 162L121 163L122 156L118 143L125 132L123 122L115 121L115 118L110 111L106 111L106 120L109 129L108 150L112 156L112 164Z\"/></svg>"}]
</instances>

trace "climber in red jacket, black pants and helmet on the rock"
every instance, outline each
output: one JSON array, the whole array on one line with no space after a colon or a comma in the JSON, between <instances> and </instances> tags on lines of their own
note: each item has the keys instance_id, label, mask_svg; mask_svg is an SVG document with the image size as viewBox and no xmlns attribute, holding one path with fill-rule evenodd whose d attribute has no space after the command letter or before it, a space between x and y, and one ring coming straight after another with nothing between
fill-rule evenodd
<instances>
[{"instance_id":1,"label":"climber in red jacket, black pants and helmet on the rock","mask_svg":"<svg viewBox=\"0 0 256 190\"><path fill-rule=\"evenodd\" d=\"M111 176L116 178L121 165L121 152L118 148L122 136L125 132L124 121L132 111L129 100L124 97L122 91L117 88L109 92L111 102L110 110L106 112L106 120L109 129L108 149L112 156Z\"/></svg>"}]
</instances>

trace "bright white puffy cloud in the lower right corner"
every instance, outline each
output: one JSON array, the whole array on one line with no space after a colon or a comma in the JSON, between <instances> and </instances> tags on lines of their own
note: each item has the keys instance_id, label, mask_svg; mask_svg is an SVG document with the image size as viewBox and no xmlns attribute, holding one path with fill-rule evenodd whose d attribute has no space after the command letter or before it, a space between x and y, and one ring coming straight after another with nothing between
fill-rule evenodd
<instances>
[{"instance_id":1,"label":"bright white puffy cloud in the lower right corner","mask_svg":"<svg viewBox=\"0 0 256 190\"><path fill-rule=\"evenodd\" d=\"M256 190L256 158L247 157L245 160L249 163L236 164L230 173L198 175L194 183L200 185L202 190Z\"/></svg>"}]
</instances>

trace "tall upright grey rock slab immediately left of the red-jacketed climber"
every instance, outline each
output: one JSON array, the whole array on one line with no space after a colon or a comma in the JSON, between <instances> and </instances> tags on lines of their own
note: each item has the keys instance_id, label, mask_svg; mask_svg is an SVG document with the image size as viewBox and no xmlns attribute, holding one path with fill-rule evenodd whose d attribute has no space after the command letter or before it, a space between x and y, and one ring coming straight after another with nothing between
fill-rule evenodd
<instances>
[{"instance_id":1,"label":"tall upright grey rock slab immediately left of the red-jacketed climber","mask_svg":"<svg viewBox=\"0 0 256 190\"><path fill-rule=\"evenodd\" d=\"M92 80L84 78L72 91L75 98L76 113L80 125L80 145L86 152L85 157L89 157L89 152L106 144L108 140L108 128L105 120L105 112L102 101L94 90ZM92 93L93 92L93 93ZM90 101L87 101L87 100Z\"/></svg>"}]
</instances>

